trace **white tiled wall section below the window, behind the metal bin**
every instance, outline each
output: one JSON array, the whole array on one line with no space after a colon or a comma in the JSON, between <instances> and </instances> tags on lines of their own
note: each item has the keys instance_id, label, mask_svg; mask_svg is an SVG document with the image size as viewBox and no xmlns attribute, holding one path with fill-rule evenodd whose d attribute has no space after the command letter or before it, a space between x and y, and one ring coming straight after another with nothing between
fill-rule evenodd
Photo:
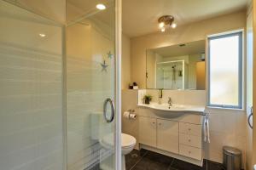
<instances>
[{"instance_id":1,"label":"white tiled wall section below the window, behind the metal bin","mask_svg":"<svg viewBox=\"0 0 256 170\"><path fill-rule=\"evenodd\" d=\"M242 151L242 162L246 160L246 123L244 111L207 109L210 113L211 143L205 144L205 157L212 161L223 161L224 145L236 147Z\"/></svg>"}]
</instances>

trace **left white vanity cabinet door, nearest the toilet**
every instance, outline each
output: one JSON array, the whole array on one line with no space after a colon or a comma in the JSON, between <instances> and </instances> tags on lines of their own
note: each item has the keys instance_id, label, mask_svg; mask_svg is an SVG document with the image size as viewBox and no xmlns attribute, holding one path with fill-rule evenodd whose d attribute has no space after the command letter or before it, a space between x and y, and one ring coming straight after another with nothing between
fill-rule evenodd
<instances>
[{"instance_id":1,"label":"left white vanity cabinet door, nearest the toilet","mask_svg":"<svg viewBox=\"0 0 256 170\"><path fill-rule=\"evenodd\" d=\"M139 117L139 143L156 147L156 119Z\"/></svg>"}]
</instances>

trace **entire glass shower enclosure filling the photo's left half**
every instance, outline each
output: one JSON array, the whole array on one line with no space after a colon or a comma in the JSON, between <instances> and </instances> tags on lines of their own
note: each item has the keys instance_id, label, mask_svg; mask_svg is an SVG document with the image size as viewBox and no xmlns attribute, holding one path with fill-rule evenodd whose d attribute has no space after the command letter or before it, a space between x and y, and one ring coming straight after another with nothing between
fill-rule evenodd
<instances>
[{"instance_id":1,"label":"entire glass shower enclosure filling the photo's left half","mask_svg":"<svg viewBox=\"0 0 256 170\"><path fill-rule=\"evenodd\" d=\"M0 0L0 169L120 169L119 7Z\"/></svg>"}]
</instances>

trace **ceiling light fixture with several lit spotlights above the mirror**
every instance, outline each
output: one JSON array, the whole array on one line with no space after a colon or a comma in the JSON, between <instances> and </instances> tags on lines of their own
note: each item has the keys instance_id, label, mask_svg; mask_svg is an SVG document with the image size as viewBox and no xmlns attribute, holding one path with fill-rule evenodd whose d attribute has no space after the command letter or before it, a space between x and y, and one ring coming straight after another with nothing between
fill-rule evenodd
<instances>
[{"instance_id":1,"label":"ceiling light fixture with several lit spotlights above the mirror","mask_svg":"<svg viewBox=\"0 0 256 170\"><path fill-rule=\"evenodd\" d=\"M168 27L176 28L177 24L174 23L174 17L172 15L164 15L159 18L158 26L160 30L164 32Z\"/></svg>"}]
</instances>

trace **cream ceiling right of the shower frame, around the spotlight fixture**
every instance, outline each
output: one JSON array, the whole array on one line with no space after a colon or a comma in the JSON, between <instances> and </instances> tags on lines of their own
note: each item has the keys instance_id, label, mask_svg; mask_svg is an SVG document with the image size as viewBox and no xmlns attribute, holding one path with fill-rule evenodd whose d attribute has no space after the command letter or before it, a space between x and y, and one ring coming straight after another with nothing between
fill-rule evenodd
<instances>
[{"instance_id":1,"label":"cream ceiling right of the shower frame, around the spotlight fixture","mask_svg":"<svg viewBox=\"0 0 256 170\"><path fill-rule=\"evenodd\" d=\"M230 14L247 8L250 0L123 0L122 25L128 37L159 31L157 20L175 17L177 26Z\"/></svg>"}]
</instances>

